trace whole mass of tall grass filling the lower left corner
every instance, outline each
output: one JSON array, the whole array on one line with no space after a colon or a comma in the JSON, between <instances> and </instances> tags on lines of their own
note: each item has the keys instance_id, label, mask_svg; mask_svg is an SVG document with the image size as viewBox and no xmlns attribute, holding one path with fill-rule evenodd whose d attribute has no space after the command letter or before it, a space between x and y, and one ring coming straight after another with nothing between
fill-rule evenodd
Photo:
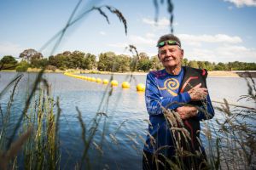
<instances>
[{"instance_id":1,"label":"whole mass of tall grass filling the lower left corner","mask_svg":"<svg viewBox=\"0 0 256 170\"><path fill-rule=\"evenodd\" d=\"M14 114L11 112L12 102L20 79L21 77L16 79L9 105L1 110L3 124L1 124L0 147L3 151L0 154L2 158L0 167L3 169L15 167L24 169L59 168L60 147L57 130L59 109L56 118L55 101L50 97L49 85L44 79L35 83L34 87L38 86L38 88L33 88L32 93L28 95L25 108L15 124L14 132L10 137L8 136L10 125L14 121L10 118L10 115ZM18 139L13 142L16 137ZM18 155L18 151L21 149L22 152Z\"/></svg>"}]
</instances>

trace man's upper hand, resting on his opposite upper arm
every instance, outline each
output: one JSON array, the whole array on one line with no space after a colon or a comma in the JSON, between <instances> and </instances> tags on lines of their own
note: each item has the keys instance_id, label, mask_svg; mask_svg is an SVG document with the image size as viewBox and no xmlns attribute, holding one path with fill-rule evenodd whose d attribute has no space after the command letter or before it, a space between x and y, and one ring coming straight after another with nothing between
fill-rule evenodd
<instances>
[{"instance_id":1,"label":"man's upper hand, resting on his opposite upper arm","mask_svg":"<svg viewBox=\"0 0 256 170\"><path fill-rule=\"evenodd\" d=\"M199 83L194 88L191 88L188 93L192 101L197 101L205 99L208 94L208 90L207 88L201 88L201 83Z\"/></svg>"}]
</instances>

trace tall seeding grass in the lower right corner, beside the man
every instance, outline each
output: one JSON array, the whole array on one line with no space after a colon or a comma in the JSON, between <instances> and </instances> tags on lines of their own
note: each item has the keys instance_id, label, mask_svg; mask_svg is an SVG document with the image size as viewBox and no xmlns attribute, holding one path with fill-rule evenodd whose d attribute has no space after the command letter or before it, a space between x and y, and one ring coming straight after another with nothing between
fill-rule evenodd
<instances>
[{"instance_id":1,"label":"tall seeding grass in the lower right corner, beside the man","mask_svg":"<svg viewBox=\"0 0 256 170\"><path fill-rule=\"evenodd\" d=\"M256 104L256 88L253 78L246 79L248 94L241 99ZM216 133L216 145L213 154L216 168L255 169L256 168L256 109L230 108L226 99L224 105L217 107L224 116L224 121L216 120L219 125ZM212 146L209 146L212 147Z\"/></svg>"}]
</instances>

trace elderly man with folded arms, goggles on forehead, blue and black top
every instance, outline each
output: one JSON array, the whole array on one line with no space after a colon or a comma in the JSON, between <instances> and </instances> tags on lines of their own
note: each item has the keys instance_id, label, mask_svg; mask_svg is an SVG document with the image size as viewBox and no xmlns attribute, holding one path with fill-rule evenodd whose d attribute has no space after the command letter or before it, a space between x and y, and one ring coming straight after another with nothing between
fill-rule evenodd
<instances>
[{"instance_id":1,"label":"elderly man with folded arms, goggles on forehead, blue and black top","mask_svg":"<svg viewBox=\"0 0 256 170\"><path fill-rule=\"evenodd\" d=\"M150 123L143 169L205 168L200 121L214 116L207 71L182 66L183 48L172 34L160 37L157 47L165 69L147 75L145 99Z\"/></svg>"}]
</instances>

